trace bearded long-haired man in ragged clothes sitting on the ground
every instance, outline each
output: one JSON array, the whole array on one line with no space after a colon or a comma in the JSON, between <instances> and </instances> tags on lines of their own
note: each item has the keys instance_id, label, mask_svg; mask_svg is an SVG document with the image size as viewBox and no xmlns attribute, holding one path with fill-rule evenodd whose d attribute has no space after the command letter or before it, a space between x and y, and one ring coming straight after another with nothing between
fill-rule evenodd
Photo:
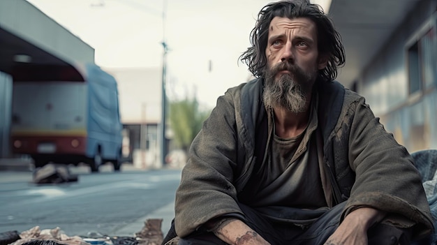
<instances>
[{"instance_id":1,"label":"bearded long-haired man in ragged clothes sitting on the ground","mask_svg":"<svg viewBox=\"0 0 437 245\"><path fill-rule=\"evenodd\" d=\"M229 89L191 145L179 244L409 244L433 229L408 151L334 81L345 55L317 5L262 8Z\"/></svg>"}]
</instances>

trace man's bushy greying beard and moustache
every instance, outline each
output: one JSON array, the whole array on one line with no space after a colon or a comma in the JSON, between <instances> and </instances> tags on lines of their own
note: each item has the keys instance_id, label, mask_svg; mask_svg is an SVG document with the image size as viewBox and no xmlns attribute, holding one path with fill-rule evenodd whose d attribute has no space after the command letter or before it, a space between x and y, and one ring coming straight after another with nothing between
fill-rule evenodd
<instances>
[{"instance_id":1,"label":"man's bushy greying beard and moustache","mask_svg":"<svg viewBox=\"0 0 437 245\"><path fill-rule=\"evenodd\" d=\"M287 67L292 73L275 75ZM317 72L304 73L302 69L291 64L281 64L265 72L265 85L262 100L268 107L282 107L290 112L299 113L306 111L306 101L316 80Z\"/></svg>"}]
</instances>

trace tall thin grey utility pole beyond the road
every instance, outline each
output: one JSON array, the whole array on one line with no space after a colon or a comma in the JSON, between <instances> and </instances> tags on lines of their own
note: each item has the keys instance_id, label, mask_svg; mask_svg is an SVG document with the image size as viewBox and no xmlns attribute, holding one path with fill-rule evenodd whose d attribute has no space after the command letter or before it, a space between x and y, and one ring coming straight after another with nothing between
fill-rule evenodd
<instances>
[{"instance_id":1,"label":"tall thin grey utility pole beyond the road","mask_svg":"<svg viewBox=\"0 0 437 245\"><path fill-rule=\"evenodd\" d=\"M167 113L167 94L165 92L165 79L167 74L167 52L168 46L165 43L165 13L167 11L167 0L163 0L163 81L162 81L162 114L161 114L161 163L165 165L167 155L167 142L165 140L165 116Z\"/></svg>"}]
</instances>

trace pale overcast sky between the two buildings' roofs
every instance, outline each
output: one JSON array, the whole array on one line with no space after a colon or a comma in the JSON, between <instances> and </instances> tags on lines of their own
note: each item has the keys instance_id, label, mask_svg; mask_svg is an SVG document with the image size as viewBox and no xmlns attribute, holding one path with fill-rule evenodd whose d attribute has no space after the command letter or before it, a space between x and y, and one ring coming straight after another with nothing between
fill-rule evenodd
<instances>
[{"instance_id":1,"label":"pale overcast sky between the two buildings' roofs","mask_svg":"<svg viewBox=\"0 0 437 245\"><path fill-rule=\"evenodd\" d=\"M162 68L170 99L216 98L246 82L238 61L266 0L27 0L95 49L102 68ZM323 8L329 0L315 0ZM165 13L163 15L163 13ZM160 91L159 91L160 92Z\"/></svg>"}]
</instances>

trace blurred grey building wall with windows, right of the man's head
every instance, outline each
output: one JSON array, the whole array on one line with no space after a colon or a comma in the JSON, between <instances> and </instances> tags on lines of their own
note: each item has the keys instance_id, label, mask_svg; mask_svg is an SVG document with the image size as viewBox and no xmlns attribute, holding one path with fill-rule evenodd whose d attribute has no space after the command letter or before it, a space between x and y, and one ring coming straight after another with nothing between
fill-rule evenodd
<instances>
[{"instance_id":1,"label":"blurred grey building wall with windows, right of the man's head","mask_svg":"<svg viewBox=\"0 0 437 245\"><path fill-rule=\"evenodd\" d=\"M418 1L357 80L357 91L410 152L437 148L436 5L437 1ZM415 57L420 60L417 74L412 69L414 47L422 49ZM422 87L413 92L412 82Z\"/></svg>"}]
</instances>

